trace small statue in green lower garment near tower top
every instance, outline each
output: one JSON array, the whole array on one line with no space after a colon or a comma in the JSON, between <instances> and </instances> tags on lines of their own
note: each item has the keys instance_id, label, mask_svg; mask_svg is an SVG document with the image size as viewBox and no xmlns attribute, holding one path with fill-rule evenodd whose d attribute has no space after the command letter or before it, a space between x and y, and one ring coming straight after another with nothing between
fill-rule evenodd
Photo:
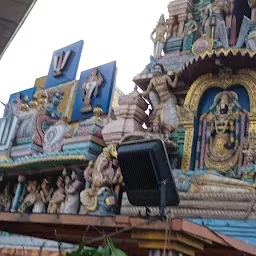
<instances>
[{"instance_id":1,"label":"small statue in green lower garment near tower top","mask_svg":"<svg viewBox=\"0 0 256 256\"><path fill-rule=\"evenodd\" d=\"M193 44L195 32L197 31L197 23L193 19L193 15L188 13L188 20L184 26L183 51L190 51Z\"/></svg>"}]
</instances>

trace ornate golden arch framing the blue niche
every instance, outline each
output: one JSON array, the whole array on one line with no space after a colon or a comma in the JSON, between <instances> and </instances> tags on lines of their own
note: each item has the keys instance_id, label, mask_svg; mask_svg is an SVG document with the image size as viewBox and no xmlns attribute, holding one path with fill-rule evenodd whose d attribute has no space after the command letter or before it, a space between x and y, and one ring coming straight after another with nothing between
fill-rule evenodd
<instances>
[{"instance_id":1,"label":"ornate golden arch framing the blue niche","mask_svg":"<svg viewBox=\"0 0 256 256\"><path fill-rule=\"evenodd\" d=\"M212 87L227 89L235 84L241 84L248 92L250 99L249 113L249 133L256 132L256 71L250 69L241 69L236 75L224 74L214 76L213 74L205 74L199 77L190 86L184 102L184 108L189 109L196 114L200 99L205 91ZM182 170L190 169L190 161L192 155L193 139L194 139L194 115L189 115L191 118L181 122L185 128L184 152L182 157Z\"/></svg>"}]
</instances>

